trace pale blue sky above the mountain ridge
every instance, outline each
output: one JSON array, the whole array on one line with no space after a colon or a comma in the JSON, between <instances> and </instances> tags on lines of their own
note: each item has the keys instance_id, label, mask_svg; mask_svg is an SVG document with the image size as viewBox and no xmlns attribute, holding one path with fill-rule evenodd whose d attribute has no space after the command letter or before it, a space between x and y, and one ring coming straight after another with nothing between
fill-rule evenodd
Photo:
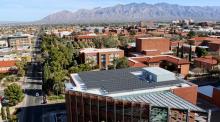
<instances>
[{"instance_id":1,"label":"pale blue sky above the mountain ridge","mask_svg":"<svg viewBox=\"0 0 220 122\"><path fill-rule=\"evenodd\" d=\"M76 11L132 2L220 6L220 0L0 0L0 21L35 21L61 10Z\"/></svg>"}]
</instances>

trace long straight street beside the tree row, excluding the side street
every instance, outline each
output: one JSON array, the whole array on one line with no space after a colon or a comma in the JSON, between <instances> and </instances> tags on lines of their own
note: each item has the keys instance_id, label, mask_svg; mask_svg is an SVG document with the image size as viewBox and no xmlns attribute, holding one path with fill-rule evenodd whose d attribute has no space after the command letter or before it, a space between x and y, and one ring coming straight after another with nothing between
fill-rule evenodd
<instances>
[{"instance_id":1,"label":"long straight street beside the tree row, excluding the side street","mask_svg":"<svg viewBox=\"0 0 220 122\"><path fill-rule=\"evenodd\" d=\"M39 40L35 42L35 47L32 52L32 62L28 65L28 71L25 84L25 99L23 108L19 113L20 122L41 122L40 117L36 116L37 113L43 112L43 107L35 109L27 109L30 106L41 105L42 103L42 68L41 65L35 62L36 49L39 48ZM38 94L38 95L37 95Z\"/></svg>"}]
</instances>

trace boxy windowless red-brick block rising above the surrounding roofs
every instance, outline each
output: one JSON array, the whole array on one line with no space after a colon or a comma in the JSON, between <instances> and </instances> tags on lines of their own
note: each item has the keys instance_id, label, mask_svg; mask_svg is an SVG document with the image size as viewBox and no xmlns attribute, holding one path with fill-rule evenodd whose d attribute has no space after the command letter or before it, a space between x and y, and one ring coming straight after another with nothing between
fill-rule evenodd
<instances>
[{"instance_id":1,"label":"boxy windowless red-brick block rising above the surrounding roofs","mask_svg":"<svg viewBox=\"0 0 220 122\"><path fill-rule=\"evenodd\" d=\"M162 37L147 37L136 39L137 52L156 52L156 54L164 54L170 51L170 41Z\"/></svg>"}]
</instances>

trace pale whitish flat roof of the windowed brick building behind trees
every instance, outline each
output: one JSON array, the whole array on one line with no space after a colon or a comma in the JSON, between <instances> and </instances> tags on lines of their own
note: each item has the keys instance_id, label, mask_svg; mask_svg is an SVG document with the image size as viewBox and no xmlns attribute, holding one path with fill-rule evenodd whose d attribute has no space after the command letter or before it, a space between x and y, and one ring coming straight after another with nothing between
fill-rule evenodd
<instances>
[{"instance_id":1,"label":"pale whitish flat roof of the windowed brick building behind trees","mask_svg":"<svg viewBox=\"0 0 220 122\"><path fill-rule=\"evenodd\" d=\"M117 52L117 51L123 51L123 50L118 49L118 48L101 48L101 49L84 48L80 50L80 53L99 53L99 52Z\"/></svg>"}]
</instances>

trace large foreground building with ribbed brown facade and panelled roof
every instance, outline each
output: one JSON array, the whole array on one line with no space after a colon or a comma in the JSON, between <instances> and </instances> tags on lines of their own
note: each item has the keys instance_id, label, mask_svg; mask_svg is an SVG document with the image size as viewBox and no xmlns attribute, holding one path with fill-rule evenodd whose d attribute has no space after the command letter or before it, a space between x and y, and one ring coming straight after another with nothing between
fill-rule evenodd
<instances>
[{"instance_id":1,"label":"large foreground building with ribbed brown facade and panelled roof","mask_svg":"<svg viewBox=\"0 0 220 122\"><path fill-rule=\"evenodd\" d=\"M71 74L69 122L208 121L197 107L197 86L159 67Z\"/></svg>"}]
</instances>

